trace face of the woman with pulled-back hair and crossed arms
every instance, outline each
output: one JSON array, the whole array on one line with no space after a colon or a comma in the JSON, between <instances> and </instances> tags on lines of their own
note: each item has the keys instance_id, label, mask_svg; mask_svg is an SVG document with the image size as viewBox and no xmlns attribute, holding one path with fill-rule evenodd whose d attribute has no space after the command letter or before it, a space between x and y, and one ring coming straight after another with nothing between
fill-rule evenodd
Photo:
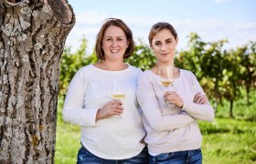
<instances>
[{"instance_id":1,"label":"face of the woman with pulled-back hair and crossed arms","mask_svg":"<svg viewBox=\"0 0 256 164\"><path fill-rule=\"evenodd\" d=\"M159 65L173 64L177 39L169 29L162 29L152 38L151 47Z\"/></svg>"}]
</instances>

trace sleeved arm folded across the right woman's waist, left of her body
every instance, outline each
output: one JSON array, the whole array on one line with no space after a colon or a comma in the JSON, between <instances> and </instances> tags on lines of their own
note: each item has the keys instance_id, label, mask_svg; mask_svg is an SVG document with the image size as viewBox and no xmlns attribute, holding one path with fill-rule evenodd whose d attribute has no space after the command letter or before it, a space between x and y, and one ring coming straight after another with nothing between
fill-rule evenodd
<instances>
[{"instance_id":1,"label":"sleeved arm folded across the right woman's waist, left of her body","mask_svg":"<svg viewBox=\"0 0 256 164\"><path fill-rule=\"evenodd\" d=\"M155 89L144 74L139 77L137 87L138 102L143 110L144 117L155 131L172 130L185 127L195 121L186 112L176 115L163 116L155 97Z\"/></svg>"}]
</instances>

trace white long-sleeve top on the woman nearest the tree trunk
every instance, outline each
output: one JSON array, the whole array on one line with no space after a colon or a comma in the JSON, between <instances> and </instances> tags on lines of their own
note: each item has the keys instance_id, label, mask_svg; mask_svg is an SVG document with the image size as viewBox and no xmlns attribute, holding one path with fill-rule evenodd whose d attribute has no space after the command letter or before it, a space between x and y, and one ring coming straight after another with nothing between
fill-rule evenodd
<instances>
[{"instance_id":1,"label":"white long-sleeve top on the woman nearest the tree trunk","mask_svg":"<svg viewBox=\"0 0 256 164\"><path fill-rule=\"evenodd\" d=\"M82 67L72 78L64 102L65 121L81 126L81 143L102 159L128 159L144 149L140 140L145 130L141 109L136 99L138 75L136 67L122 71L102 70L93 65ZM96 113L112 100L112 81L123 84L123 114L95 122Z\"/></svg>"}]
</instances>

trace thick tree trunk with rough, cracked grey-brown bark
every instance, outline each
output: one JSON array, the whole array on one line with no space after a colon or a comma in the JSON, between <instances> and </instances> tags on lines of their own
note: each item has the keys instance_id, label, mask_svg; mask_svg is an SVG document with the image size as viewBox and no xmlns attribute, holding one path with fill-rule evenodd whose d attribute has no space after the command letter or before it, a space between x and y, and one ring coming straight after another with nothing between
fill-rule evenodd
<instances>
[{"instance_id":1,"label":"thick tree trunk with rough, cracked grey-brown bark","mask_svg":"<svg viewBox=\"0 0 256 164\"><path fill-rule=\"evenodd\" d=\"M54 163L66 0L0 0L0 163Z\"/></svg>"}]
</instances>

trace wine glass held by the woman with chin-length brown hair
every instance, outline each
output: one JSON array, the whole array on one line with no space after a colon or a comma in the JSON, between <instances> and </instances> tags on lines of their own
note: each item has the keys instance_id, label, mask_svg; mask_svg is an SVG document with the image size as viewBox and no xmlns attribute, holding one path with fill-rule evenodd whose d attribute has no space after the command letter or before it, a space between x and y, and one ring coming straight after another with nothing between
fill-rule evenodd
<instances>
[{"instance_id":1,"label":"wine glass held by the woman with chin-length brown hair","mask_svg":"<svg viewBox=\"0 0 256 164\"><path fill-rule=\"evenodd\" d=\"M117 79L112 79L112 99L117 99L122 101L125 97L125 88L121 81ZM116 118L121 118L120 116L117 116Z\"/></svg>"}]
</instances>

